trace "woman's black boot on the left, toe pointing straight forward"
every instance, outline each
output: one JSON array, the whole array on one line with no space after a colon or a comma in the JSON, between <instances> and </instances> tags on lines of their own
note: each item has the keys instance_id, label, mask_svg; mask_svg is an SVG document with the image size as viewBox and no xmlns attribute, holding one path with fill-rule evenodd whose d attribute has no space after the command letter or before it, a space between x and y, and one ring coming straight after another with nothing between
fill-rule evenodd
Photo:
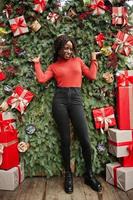
<instances>
[{"instance_id":1,"label":"woman's black boot on the left, toe pointing straight forward","mask_svg":"<svg viewBox=\"0 0 133 200\"><path fill-rule=\"evenodd\" d=\"M64 189L66 193L71 194L73 192L73 177L71 171L65 172Z\"/></svg>"}]
</instances>

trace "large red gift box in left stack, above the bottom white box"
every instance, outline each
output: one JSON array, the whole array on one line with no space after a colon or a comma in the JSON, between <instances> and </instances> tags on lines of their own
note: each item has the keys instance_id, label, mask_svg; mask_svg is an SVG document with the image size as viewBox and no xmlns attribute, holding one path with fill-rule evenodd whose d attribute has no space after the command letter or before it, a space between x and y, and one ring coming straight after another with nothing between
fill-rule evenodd
<instances>
[{"instance_id":1,"label":"large red gift box in left stack, above the bottom white box","mask_svg":"<svg viewBox=\"0 0 133 200\"><path fill-rule=\"evenodd\" d=\"M0 169L11 169L19 164L18 132L0 132Z\"/></svg>"}]
</instances>

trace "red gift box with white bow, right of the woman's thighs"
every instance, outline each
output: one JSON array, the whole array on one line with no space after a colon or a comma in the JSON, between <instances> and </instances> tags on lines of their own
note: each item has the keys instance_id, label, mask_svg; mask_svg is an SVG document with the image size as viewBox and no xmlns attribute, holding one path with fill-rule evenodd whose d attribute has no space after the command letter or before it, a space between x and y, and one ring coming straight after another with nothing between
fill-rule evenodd
<instances>
[{"instance_id":1,"label":"red gift box with white bow, right of the woman's thighs","mask_svg":"<svg viewBox=\"0 0 133 200\"><path fill-rule=\"evenodd\" d=\"M105 130L108 130L109 127L116 125L114 108L112 106L93 109L92 112L97 129L105 128Z\"/></svg>"}]
</instances>

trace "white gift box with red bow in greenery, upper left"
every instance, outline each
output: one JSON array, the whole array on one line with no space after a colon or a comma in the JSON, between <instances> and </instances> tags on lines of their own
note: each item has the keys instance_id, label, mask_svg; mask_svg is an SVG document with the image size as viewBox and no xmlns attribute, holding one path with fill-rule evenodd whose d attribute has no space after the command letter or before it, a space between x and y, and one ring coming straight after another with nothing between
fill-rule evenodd
<instances>
[{"instance_id":1,"label":"white gift box with red bow in greenery, upper left","mask_svg":"<svg viewBox=\"0 0 133 200\"><path fill-rule=\"evenodd\" d=\"M9 23L14 36L29 32L24 16L10 19Z\"/></svg>"}]
</instances>

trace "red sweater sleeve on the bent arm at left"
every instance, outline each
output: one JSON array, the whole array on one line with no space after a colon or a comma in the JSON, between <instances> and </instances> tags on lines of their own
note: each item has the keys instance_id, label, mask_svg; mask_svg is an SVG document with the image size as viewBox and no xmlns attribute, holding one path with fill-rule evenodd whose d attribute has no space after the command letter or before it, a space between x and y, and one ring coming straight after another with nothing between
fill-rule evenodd
<instances>
[{"instance_id":1,"label":"red sweater sleeve on the bent arm at left","mask_svg":"<svg viewBox=\"0 0 133 200\"><path fill-rule=\"evenodd\" d=\"M46 83L53 78L54 74L51 66L49 66L45 72L42 71L40 62L35 63L34 67L35 74L39 83Z\"/></svg>"}]
</instances>

